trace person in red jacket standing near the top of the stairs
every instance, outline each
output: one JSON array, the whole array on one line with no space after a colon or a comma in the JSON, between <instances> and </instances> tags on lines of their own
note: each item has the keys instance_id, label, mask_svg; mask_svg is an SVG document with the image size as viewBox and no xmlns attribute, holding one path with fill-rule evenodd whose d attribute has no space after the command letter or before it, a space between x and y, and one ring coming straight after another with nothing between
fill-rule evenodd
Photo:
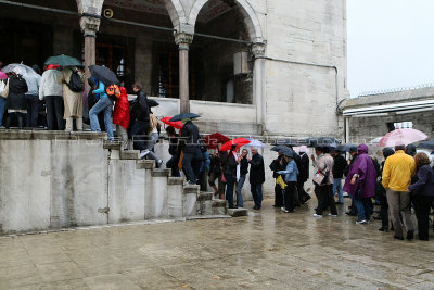
<instances>
[{"instance_id":1,"label":"person in red jacket standing near the top of the stairs","mask_svg":"<svg viewBox=\"0 0 434 290\"><path fill-rule=\"evenodd\" d=\"M122 147L128 149L128 126L129 126L129 102L127 90L119 88L120 97L116 100L115 111L113 112L113 123L116 124L116 135L120 137Z\"/></svg>"}]
</instances>

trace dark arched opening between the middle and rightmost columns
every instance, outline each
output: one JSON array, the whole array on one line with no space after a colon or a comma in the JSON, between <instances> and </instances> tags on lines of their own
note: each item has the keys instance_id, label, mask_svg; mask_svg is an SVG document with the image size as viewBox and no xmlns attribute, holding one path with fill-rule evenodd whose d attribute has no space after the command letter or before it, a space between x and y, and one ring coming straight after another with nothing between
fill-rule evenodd
<instances>
[{"instance_id":1,"label":"dark arched opening between the middle and rightmost columns","mask_svg":"<svg viewBox=\"0 0 434 290\"><path fill-rule=\"evenodd\" d=\"M195 36L190 55L200 55L201 62L191 63L192 100L244 103L253 102L252 56L248 52L250 34L240 7L233 0L209 0L195 18L196 34L237 39L228 41Z\"/></svg>"}]
</instances>

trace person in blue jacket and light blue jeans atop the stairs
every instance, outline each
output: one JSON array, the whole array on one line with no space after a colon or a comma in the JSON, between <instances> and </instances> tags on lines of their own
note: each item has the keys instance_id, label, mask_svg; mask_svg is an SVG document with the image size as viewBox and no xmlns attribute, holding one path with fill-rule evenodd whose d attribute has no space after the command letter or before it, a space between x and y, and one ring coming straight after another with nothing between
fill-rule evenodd
<instances>
[{"instance_id":1,"label":"person in blue jacket and light blue jeans atop the stairs","mask_svg":"<svg viewBox=\"0 0 434 290\"><path fill-rule=\"evenodd\" d=\"M98 89L93 91L93 93L100 94L100 100L90 109L89 117L90 117L90 128L92 131L101 131L100 122L98 121L98 113L104 112L104 124L105 130L107 133L108 141L114 141L113 137L113 102L108 98L105 92L105 85L101 80L99 81Z\"/></svg>"}]
</instances>

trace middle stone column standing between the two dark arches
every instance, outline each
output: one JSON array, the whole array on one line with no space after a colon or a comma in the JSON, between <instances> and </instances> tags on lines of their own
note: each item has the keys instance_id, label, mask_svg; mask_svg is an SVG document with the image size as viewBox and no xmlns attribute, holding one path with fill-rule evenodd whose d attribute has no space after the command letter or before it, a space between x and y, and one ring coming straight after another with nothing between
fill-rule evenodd
<instances>
[{"instance_id":1,"label":"middle stone column standing between the two dark arches","mask_svg":"<svg viewBox=\"0 0 434 290\"><path fill-rule=\"evenodd\" d=\"M180 112L190 113L189 98L189 47L193 41L193 35L179 33L175 36L179 46L179 102Z\"/></svg>"}]
</instances>

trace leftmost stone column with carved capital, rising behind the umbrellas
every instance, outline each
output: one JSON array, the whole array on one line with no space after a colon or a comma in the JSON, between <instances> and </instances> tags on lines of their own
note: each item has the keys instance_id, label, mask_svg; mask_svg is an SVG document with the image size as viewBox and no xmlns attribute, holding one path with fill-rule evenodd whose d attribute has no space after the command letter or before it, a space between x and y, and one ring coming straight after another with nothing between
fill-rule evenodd
<instances>
[{"instance_id":1,"label":"leftmost stone column with carved capital, rising behind the umbrellas","mask_svg":"<svg viewBox=\"0 0 434 290\"><path fill-rule=\"evenodd\" d=\"M88 66L95 64L95 38L97 31L100 28L100 18L90 17L90 16L81 16L80 18L80 27L81 31L85 36L85 72L86 79L90 77L90 72ZM89 85L85 81L86 90L89 90Z\"/></svg>"}]
</instances>

